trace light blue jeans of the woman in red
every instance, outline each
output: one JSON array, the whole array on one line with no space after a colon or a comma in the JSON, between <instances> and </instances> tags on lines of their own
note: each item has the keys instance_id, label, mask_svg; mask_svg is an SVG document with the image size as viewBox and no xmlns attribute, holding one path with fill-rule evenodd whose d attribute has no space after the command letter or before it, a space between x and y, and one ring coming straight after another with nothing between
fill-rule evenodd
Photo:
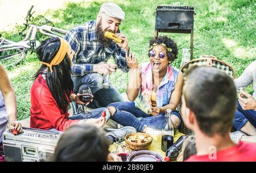
<instances>
[{"instance_id":1,"label":"light blue jeans of the woman in red","mask_svg":"<svg viewBox=\"0 0 256 173\"><path fill-rule=\"evenodd\" d=\"M84 117L84 112L81 112L77 115L71 116L68 119L69 120L82 120L82 119L98 119L99 117L101 117L101 113L103 111L106 111L106 121L108 121L110 119L110 113L109 110L107 108L97 108L97 109L93 109L92 111L89 111L90 113L92 113L92 115L90 117ZM54 133L59 133L59 130L56 130L54 128L49 129L50 132L54 132Z\"/></svg>"}]
</instances>

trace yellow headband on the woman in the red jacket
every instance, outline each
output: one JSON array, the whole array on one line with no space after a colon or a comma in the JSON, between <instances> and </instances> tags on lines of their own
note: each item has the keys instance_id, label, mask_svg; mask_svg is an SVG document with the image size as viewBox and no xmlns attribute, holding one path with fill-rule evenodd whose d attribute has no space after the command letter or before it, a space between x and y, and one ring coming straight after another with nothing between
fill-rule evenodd
<instances>
[{"instance_id":1,"label":"yellow headband on the woman in the red jacket","mask_svg":"<svg viewBox=\"0 0 256 173\"><path fill-rule=\"evenodd\" d=\"M69 56L68 48L70 48L68 41L60 38L60 49L57 52L56 56L52 59L51 63L49 64L43 61L41 61L41 63L44 65L47 65L52 73L52 66L60 64L60 62L64 59L66 53L68 53L68 56Z\"/></svg>"}]
</instances>

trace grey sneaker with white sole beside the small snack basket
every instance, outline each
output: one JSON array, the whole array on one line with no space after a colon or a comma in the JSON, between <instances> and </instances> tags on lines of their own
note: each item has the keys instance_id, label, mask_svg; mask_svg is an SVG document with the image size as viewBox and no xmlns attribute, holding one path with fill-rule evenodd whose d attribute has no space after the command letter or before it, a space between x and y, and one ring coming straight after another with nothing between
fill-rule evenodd
<instances>
[{"instance_id":1,"label":"grey sneaker with white sole beside the small snack basket","mask_svg":"<svg viewBox=\"0 0 256 173\"><path fill-rule=\"evenodd\" d=\"M106 136L110 135L115 138L115 144L119 144L123 140L125 140L125 136L130 133L136 133L137 130L132 126L125 126L121 129L112 129L112 128L105 128L107 133Z\"/></svg>"}]
</instances>

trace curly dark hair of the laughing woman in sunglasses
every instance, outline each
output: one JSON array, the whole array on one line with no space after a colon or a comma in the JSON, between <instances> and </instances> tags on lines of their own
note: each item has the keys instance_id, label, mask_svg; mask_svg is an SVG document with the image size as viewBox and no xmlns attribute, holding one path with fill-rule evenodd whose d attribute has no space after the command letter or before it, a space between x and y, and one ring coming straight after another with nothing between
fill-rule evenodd
<instances>
[{"instance_id":1,"label":"curly dark hair of the laughing woman in sunglasses","mask_svg":"<svg viewBox=\"0 0 256 173\"><path fill-rule=\"evenodd\" d=\"M148 50L148 57L150 56L149 52L152 50L152 45L153 44L165 44L167 48L171 48L172 51L170 52L169 50L166 49L166 52L168 54L168 60L171 62L174 61L177 58L178 54L178 49L177 49L177 44L174 42L174 40L170 39L167 36L159 36L159 37L154 37L153 39L150 40L150 49Z\"/></svg>"}]
</instances>

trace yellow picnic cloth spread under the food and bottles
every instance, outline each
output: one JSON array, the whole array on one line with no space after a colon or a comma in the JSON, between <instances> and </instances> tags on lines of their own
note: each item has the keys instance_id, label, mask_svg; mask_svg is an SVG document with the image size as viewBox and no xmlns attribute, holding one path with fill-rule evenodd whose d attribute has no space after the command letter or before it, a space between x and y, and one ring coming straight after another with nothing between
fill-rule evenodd
<instances>
[{"instance_id":1,"label":"yellow picnic cloth spread under the food and bottles","mask_svg":"<svg viewBox=\"0 0 256 173\"><path fill-rule=\"evenodd\" d=\"M184 135L185 134L180 133L178 130L176 130L174 135L174 142L176 142L179 139L179 137ZM153 138L153 141L150 147L148 147L148 150L155 151L156 153L160 154L164 159L166 157L166 153L161 149L162 135L152 135L152 138ZM121 142L121 144L124 144L124 143L125 141ZM117 144L112 144L109 147L110 152L116 151L116 149L117 149Z\"/></svg>"}]
</instances>

